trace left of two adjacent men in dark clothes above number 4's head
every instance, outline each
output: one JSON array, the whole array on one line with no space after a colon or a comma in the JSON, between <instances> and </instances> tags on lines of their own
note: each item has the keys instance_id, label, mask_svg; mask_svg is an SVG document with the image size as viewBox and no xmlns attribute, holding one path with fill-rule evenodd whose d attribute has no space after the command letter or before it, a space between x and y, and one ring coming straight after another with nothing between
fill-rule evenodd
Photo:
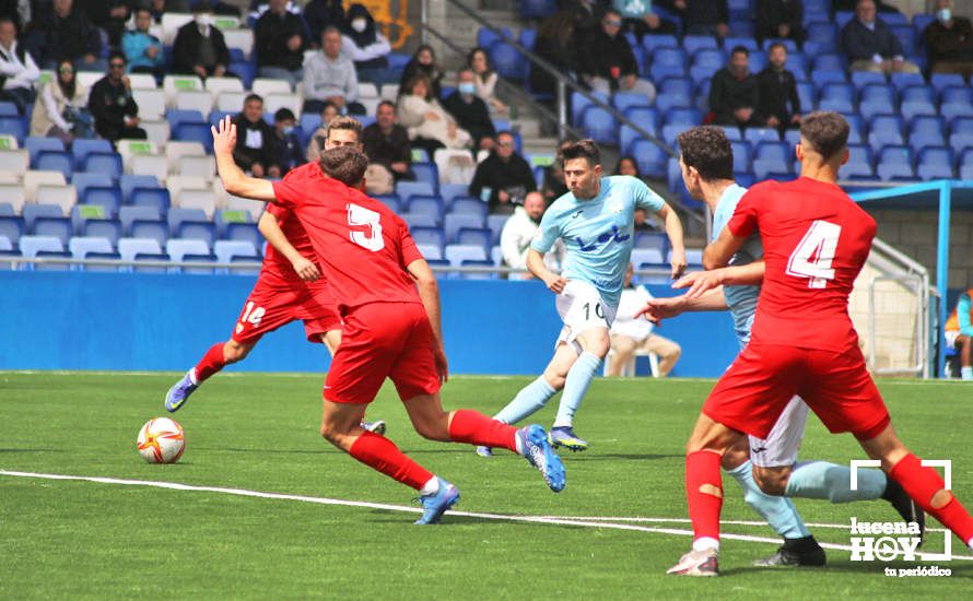
<instances>
[{"instance_id":1,"label":"left of two adjacent men in dark clothes above number 4's head","mask_svg":"<svg viewBox=\"0 0 973 601\"><path fill-rule=\"evenodd\" d=\"M757 78L750 72L750 51L736 46L730 52L729 64L713 75L710 85L710 113L712 122L722 126L763 127L757 114Z\"/></svg>"}]
</instances>

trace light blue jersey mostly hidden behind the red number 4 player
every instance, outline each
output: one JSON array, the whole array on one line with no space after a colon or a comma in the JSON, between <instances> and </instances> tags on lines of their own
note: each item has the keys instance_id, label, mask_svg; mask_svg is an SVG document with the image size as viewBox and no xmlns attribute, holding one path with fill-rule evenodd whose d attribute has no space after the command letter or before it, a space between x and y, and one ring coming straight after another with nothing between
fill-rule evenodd
<instances>
[{"instance_id":1,"label":"light blue jersey mostly hidden behind the red number 4 player","mask_svg":"<svg viewBox=\"0 0 973 601\"><path fill-rule=\"evenodd\" d=\"M716 203L716 212L713 214L713 238L711 241L719 237L719 233L734 216L737 203L740 202L745 193L747 193L747 188L741 188L736 184L723 191L719 202ZM730 264L746 266L761 257L763 257L763 244L760 241L760 235L754 233L732 256ZM753 326L753 315L757 313L760 286L724 286L723 294L726 296L726 305L734 318L734 329L737 332L740 349L742 349L750 342L750 328Z\"/></svg>"}]
</instances>

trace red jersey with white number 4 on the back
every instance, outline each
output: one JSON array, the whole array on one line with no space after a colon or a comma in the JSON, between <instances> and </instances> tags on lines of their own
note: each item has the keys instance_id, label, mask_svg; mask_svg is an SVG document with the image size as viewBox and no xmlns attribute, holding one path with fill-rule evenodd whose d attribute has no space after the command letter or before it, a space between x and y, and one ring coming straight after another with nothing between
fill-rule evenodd
<instances>
[{"instance_id":1,"label":"red jersey with white number 4 on the back","mask_svg":"<svg viewBox=\"0 0 973 601\"><path fill-rule=\"evenodd\" d=\"M834 184L801 177L750 188L727 223L760 231L766 272L751 342L844 352L858 344L848 295L876 223Z\"/></svg>"}]
</instances>

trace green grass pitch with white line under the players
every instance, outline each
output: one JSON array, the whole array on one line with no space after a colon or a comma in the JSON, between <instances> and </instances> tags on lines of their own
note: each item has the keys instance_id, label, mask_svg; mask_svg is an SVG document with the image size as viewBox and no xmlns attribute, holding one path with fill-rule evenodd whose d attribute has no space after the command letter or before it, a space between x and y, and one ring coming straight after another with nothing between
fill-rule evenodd
<instances>
[{"instance_id":1,"label":"green grass pitch with white line under the players","mask_svg":"<svg viewBox=\"0 0 973 601\"><path fill-rule=\"evenodd\" d=\"M223 375L177 414L188 445L179 463L150 466L134 439L174 375L0 373L0 469L238 487L408 505L413 492L335 450L318 435L320 376ZM445 404L494 412L526 378L455 378ZM429 443L410 428L389 387L370 412L403 450L455 482L457 509L530 516L684 518L682 445L712 387L705 380L596 380L578 420L591 441L566 458L567 488L550 493L511 453ZM902 438L918 455L953 460L953 488L973 506L969 447L973 387L881 382ZM554 406L538 415L549 424ZM806 458L864 458L851 436L811 420ZM753 520L725 479L724 519ZM807 522L876 521L883 502L799 500ZM725 540L723 577L666 577L689 538L607 528L414 514L0 475L0 598L761 599L962 598L973 562L950 578L887 578L883 564L829 551L825 569L758 569L773 544ZM685 523L643 523L685 529ZM846 528L812 528L848 544ZM772 537L766 527L725 532ZM929 544L941 544L930 537ZM958 553L962 547L954 540ZM930 551L935 549L930 547ZM969 552L965 552L969 555ZM900 564L895 564L900 566ZM940 567L946 567L940 564Z\"/></svg>"}]
</instances>

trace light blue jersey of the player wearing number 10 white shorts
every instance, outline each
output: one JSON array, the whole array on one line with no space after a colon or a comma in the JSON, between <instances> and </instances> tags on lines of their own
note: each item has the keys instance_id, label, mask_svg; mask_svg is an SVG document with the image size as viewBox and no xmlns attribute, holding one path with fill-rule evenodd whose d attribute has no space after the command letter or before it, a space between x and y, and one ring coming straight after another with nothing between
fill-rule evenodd
<instances>
[{"instance_id":1,"label":"light blue jersey of the player wearing number 10 white shorts","mask_svg":"<svg viewBox=\"0 0 973 601\"><path fill-rule=\"evenodd\" d=\"M601 190L590 200L577 200L572 192L555 200L530 247L546 254L563 239L567 256L562 275L588 282L605 303L617 307L632 256L635 209L655 213L665 204L641 179L602 177Z\"/></svg>"}]
</instances>

